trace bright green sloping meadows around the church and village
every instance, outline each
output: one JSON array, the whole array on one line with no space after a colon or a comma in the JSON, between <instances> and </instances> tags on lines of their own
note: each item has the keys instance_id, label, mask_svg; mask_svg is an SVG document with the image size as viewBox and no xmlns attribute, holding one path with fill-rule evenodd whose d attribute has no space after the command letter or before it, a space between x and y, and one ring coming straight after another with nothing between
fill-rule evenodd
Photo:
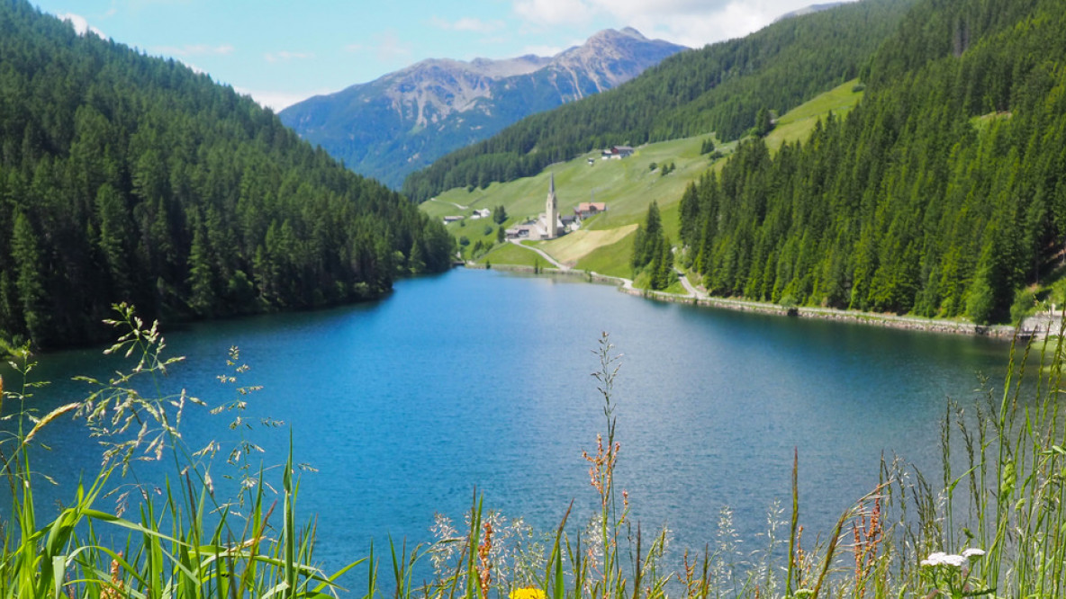
<instances>
[{"instance_id":1,"label":"bright green sloping meadows around the church and village","mask_svg":"<svg viewBox=\"0 0 1066 599\"><path fill-rule=\"evenodd\" d=\"M768 145L776 149L785 142L805 140L814 124L829 112L835 115L850 112L862 97L856 84L856 81L849 81L782 115L766 136ZM665 230L677 240L678 201L685 187L708 168L720 169L737 145L737 142L718 144L715 140L717 150L724 158L711 161L708 155L699 153L707 139L713 137L699 135L647 144L624 160L600 160L598 151L589 152L553 164L533 177L492 183L486 189L449 190L423 203L421 209L431 216L441 218L446 215L466 215L466 221L448 225L448 230L456 239L466 237L470 241L467 246L469 253L469 248L479 241L489 246L496 243L496 225L487 218L471 221L472 210L503 206L508 215L504 227L535 217L544 212L549 178L553 174L561 214L571 214L577 205L593 200L607 203L608 211L586 220L579 231L551 241L526 243L536 245L572 268L628 277L631 274L628 256L632 234L648 206L652 201L659 203ZM589 158L593 159L592 164L588 163ZM650 168L652 163L657 165L655 169ZM671 163L674 169L663 176L661 165ZM504 264L512 263L508 260L518 256L521 261L513 263L532 264L524 255L510 250L499 255L494 252L488 260L494 264Z\"/></svg>"}]
</instances>

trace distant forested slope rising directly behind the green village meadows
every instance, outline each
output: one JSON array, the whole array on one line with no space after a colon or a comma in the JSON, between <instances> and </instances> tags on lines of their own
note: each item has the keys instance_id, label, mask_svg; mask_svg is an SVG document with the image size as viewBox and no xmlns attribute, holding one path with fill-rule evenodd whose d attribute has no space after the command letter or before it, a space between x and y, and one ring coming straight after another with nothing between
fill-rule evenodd
<instances>
[{"instance_id":1,"label":"distant forested slope rising directly behind the green village meadows","mask_svg":"<svg viewBox=\"0 0 1066 599\"><path fill-rule=\"evenodd\" d=\"M527 117L404 181L421 201L443 190L510 181L611 145L716 132L741 136L761 109L778 114L856 77L914 0L865 0L788 18L747 37L675 54L618 87Z\"/></svg>"}]
</instances>

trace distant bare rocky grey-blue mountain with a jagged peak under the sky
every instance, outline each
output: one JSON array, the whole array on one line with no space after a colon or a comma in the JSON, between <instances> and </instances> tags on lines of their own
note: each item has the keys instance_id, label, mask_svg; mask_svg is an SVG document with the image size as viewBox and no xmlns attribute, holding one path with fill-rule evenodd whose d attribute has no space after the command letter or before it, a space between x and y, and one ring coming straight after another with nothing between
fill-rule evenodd
<instances>
[{"instance_id":1,"label":"distant bare rocky grey-blue mountain with a jagged peak under the sky","mask_svg":"<svg viewBox=\"0 0 1066 599\"><path fill-rule=\"evenodd\" d=\"M608 29L554 56L432 59L314 96L279 114L352 169L398 188L407 174L534 113L611 90L683 46Z\"/></svg>"}]
</instances>

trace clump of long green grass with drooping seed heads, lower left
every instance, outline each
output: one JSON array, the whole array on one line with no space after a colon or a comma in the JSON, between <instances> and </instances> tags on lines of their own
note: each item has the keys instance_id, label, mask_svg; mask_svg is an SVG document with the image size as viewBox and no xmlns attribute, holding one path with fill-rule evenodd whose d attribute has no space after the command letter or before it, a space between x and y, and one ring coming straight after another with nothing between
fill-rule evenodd
<instances>
[{"instance_id":1,"label":"clump of long green grass with drooping seed heads, lower left","mask_svg":"<svg viewBox=\"0 0 1066 599\"><path fill-rule=\"evenodd\" d=\"M247 455L246 444L227 459L240 473L237 497L216 498L211 457L219 444L191 451L180 433L187 407L201 402L185 391L148 396L140 391L143 386L158 392L158 377L177 359L164 357L157 326L146 327L130 308L120 307L111 324L123 335L108 353L124 354L133 367L106 382L84 379L95 388L85 401L36 416L31 400L41 385L30 383L33 365L25 352L14 362L21 387L11 391L0 383L0 414L16 405L9 416L14 434L0 442L12 504L0 540L0 597L296 598L334 590L336 578L358 563L330 576L312 565L314 530L296 527L298 481L291 456L281 474L280 509L265 490L262 470L249 471L240 457ZM230 357L238 357L236 351ZM238 394L249 390L239 388ZM41 482L31 468L33 441L70 412L84 417L104 444L104 463L95 480L78 485L68 507L42 523L33 498ZM134 485L113 508L101 505L136 463L167 458L178 468L159 498Z\"/></svg>"}]
</instances>

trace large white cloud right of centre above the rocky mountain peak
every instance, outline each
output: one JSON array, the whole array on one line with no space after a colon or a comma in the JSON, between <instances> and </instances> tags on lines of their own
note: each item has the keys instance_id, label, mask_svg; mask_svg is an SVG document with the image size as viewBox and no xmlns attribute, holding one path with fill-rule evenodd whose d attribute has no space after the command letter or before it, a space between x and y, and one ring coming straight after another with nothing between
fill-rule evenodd
<instances>
[{"instance_id":1,"label":"large white cloud right of centre above the rocky mountain peak","mask_svg":"<svg viewBox=\"0 0 1066 599\"><path fill-rule=\"evenodd\" d=\"M563 25L603 18L693 48L741 37L813 0L512 0L530 25Z\"/></svg>"}]
</instances>

